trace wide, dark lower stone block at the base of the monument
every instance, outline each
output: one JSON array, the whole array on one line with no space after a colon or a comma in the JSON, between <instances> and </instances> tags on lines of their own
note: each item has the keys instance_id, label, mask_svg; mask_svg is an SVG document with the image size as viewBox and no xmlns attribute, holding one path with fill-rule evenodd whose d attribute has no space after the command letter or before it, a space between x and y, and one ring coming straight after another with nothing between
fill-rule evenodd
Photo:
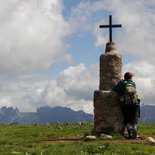
<instances>
[{"instance_id":1,"label":"wide, dark lower stone block at the base of the monument","mask_svg":"<svg viewBox=\"0 0 155 155\"><path fill-rule=\"evenodd\" d=\"M94 130L97 133L120 132L123 117L119 96L113 91L94 92Z\"/></svg>"}]
</instances>

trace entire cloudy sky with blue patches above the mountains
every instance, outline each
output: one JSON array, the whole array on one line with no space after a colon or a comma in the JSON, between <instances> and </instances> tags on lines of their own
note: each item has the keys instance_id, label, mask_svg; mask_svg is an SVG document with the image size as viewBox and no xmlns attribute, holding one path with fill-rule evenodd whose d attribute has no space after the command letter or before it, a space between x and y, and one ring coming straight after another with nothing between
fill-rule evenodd
<instances>
[{"instance_id":1,"label":"entire cloudy sky with blue patches above the mountains","mask_svg":"<svg viewBox=\"0 0 155 155\"><path fill-rule=\"evenodd\" d=\"M143 104L155 104L154 0L0 0L0 107L93 113L108 24Z\"/></svg>"}]
</instances>

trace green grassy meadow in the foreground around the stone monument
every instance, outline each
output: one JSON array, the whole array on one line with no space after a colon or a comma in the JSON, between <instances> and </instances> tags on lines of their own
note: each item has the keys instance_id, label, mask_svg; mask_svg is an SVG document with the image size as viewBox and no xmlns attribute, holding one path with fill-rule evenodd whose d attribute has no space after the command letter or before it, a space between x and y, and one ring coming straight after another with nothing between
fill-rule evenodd
<instances>
[{"instance_id":1,"label":"green grassy meadow in the foreground around the stone monument","mask_svg":"<svg viewBox=\"0 0 155 155\"><path fill-rule=\"evenodd\" d=\"M84 136L92 123L55 123L32 125L0 124L0 155L155 155L155 146L145 141L113 140L63 142L57 137ZM139 124L140 135L155 135L155 124Z\"/></svg>"}]
</instances>

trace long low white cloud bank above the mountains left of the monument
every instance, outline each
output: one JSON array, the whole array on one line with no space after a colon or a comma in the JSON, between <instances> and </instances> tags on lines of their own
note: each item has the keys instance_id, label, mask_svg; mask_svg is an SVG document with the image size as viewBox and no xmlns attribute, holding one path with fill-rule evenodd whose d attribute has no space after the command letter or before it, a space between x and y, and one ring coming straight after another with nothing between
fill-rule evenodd
<instances>
[{"instance_id":1,"label":"long low white cloud bank above the mountains left of the monument","mask_svg":"<svg viewBox=\"0 0 155 155\"><path fill-rule=\"evenodd\" d=\"M21 111L35 111L40 106L67 106L93 113L93 92L98 89L96 72L96 66L87 69L79 64L66 68L57 79L35 81L35 75L17 79L1 87L0 105L11 105Z\"/></svg>"}]
</instances>

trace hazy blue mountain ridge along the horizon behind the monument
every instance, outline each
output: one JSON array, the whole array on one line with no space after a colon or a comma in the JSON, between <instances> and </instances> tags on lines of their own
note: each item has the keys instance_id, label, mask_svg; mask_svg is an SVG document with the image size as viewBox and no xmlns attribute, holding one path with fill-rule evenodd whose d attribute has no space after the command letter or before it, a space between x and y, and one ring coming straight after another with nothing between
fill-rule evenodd
<instances>
[{"instance_id":1,"label":"hazy blue mountain ridge along the horizon behind the monument","mask_svg":"<svg viewBox=\"0 0 155 155\"><path fill-rule=\"evenodd\" d=\"M155 123L155 106L143 105L141 107L140 120L145 123ZM80 111L74 111L67 107L40 107L37 112L20 112L18 108L0 108L0 123L65 123L93 121L93 115Z\"/></svg>"}]
</instances>

